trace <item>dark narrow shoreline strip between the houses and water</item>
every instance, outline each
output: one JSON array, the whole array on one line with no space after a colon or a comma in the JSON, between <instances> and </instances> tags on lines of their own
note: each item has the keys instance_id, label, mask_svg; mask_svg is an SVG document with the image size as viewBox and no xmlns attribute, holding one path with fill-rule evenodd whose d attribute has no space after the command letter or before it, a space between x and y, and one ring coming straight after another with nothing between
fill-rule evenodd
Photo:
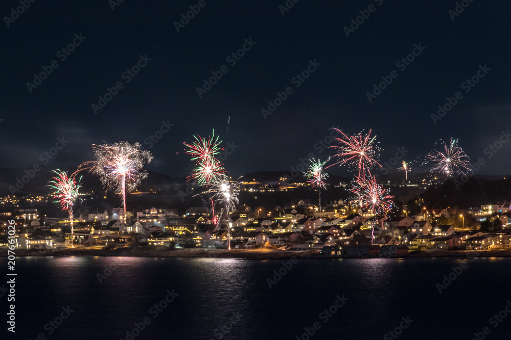
<instances>
[{"instance_id":1,"label":"dark narrow shoreline strip between the houses and water","mask_svg":"<svg viewBox=\"0 0 511 340\"><path fill-rule=\"evenodd\" d=\"M433 257L456 257L467 258L470 254L476 257L511 257L511 249L505 250L453 250L453 251L411 251L406 255L393 255L390 258L433 258ZM0 257L7 257L6 249L0 250ZM332 258L380 258L380 254L367 256L323 256L319 250L280 250L280 249L176 249L169 250L165 247L158 248L117 248L117 249L50 249L50 250L26 250L15 251L16 257L34 256L132 256L132 257L177 257L177 258L238 258L238 259L290 259L291 257L309 259L332 259ZM383 256L385 257L385 256ZM386 257L385 257L386 258Z\"/></svg>"}]
</instances>

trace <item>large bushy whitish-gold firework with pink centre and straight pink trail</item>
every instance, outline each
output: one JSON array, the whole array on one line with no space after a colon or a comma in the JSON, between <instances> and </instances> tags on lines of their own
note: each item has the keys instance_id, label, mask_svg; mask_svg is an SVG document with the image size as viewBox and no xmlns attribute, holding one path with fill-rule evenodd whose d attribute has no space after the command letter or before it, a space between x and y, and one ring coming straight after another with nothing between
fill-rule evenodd
<instances>
[{"instance_id":1,"label":"large bushy whitish-gold firework with pink centre and straight pink trail","mask_svg":"<svg viewBox=\"0 0 511 340\"><path fill-rule=\"evenodd\" d=\"M138 187L147 178L147 171L142 170L150 163L153 155L148 150L142 150L139 143L130 144L126 141L113 144L92 144L96 161L85 162L78 171L89 169L99 175L101 183L107 190L113 190L123 198L124 218L126 210L126 193ZM87 167L87 165L91 165Z\"/></svg>"}]
</instances>

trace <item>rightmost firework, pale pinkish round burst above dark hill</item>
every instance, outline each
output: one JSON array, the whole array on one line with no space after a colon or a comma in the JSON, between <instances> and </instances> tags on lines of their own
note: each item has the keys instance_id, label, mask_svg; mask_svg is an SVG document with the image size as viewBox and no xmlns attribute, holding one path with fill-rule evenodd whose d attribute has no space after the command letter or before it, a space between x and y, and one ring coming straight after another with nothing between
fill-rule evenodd
<instances>
[{"instance_id":1,"label":"rightmost firework, pale pinkish round burst above dark hill","mask_svg":"<svg viewBox=\"0 0 511 340\"><path fill-rule=\"evenodd\" d=\"M458 146L458 140L451 138L446 144L440 140L444 151L433 150L426 155L426 163L432 165L431 172L443 173L446 177L464 175L464 171L470 170L470 158ZM436 144L435 144L436 145Z\"/></svg>"}]
</instances>

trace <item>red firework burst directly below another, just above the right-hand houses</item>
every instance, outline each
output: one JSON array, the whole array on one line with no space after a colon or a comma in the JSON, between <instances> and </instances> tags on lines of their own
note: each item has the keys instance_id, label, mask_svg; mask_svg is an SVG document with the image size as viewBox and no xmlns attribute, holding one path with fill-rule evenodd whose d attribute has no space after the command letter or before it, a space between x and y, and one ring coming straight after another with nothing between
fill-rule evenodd
<instances>
[{"instance_id":1,"label":"red firework burst directly below another, just above the right-hand houses","mask_svg":"<svg viewBox=\"0 0 511 340\"><path fill-rule=\"evenodd\" d=\"M375 176L368 178L356 176L351 192L360 201L361 207L370 210L377 217L377 220L378 217L387 217L394 196L389 195L389 190L378 184ZM373 226L371 242L375 239L374 232L375 227Z\"/></svg>"}]
</instances>

